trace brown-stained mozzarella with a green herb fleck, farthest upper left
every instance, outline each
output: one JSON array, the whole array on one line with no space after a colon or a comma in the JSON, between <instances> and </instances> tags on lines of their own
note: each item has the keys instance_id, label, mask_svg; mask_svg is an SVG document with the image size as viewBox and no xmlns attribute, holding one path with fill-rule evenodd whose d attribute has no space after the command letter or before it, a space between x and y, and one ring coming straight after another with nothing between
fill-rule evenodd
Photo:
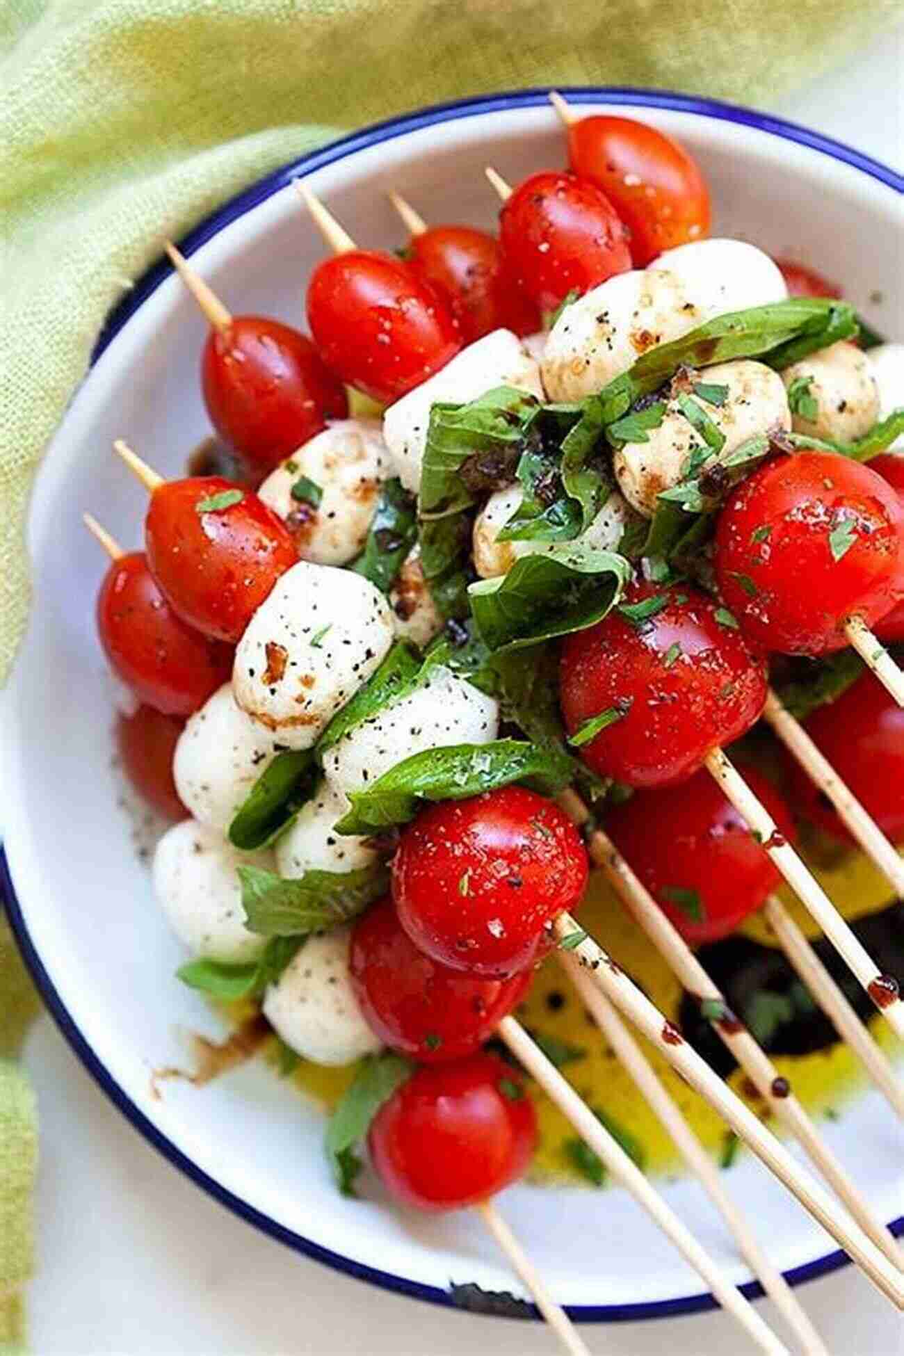
<instances>
[{"instance_id":1,"label":"brown-stained mozzarella with a green herb fleck, farthest upper left","mask_svg":"<svg viewBox=\"0 0 904 1356\"><path fill-rule=\"evenodd\" d=\"M375 419L339 419L272 471L258 495L276 513L302 560L346 565L367 541L389 454ZM321 491L314 507L293 499L301 476Z\"/></svg>"}]
</instances>

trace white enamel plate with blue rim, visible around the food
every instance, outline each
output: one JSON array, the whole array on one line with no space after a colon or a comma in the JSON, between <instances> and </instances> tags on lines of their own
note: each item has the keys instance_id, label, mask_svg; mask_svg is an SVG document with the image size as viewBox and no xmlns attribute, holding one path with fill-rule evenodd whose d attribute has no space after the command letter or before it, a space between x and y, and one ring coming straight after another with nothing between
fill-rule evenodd
<instances>
[{"instance_id":1,"label":"white enamel plate with blue rim, visible around the food","mask_svg":"<svg viewBox=\"0 0 904 1356\"><path fill-rule=\"evenodd\" d=\"M640 91L573 91L576 103L629 106L682 137L701 159L714 229L812 263L888 334L904 334L900 259L904 182L890 170L804 129L745 110ZM253 186L186 243L236 312L301 323L320 258L293 178L367 245L393 248L392 187L431 220L489 225L482 168L510 179L562 161L543 91L469 100L394 119L304 157ZM81 527L92 509L126 544L141 540L142 494L110 447L126 437L164 475L209 433L197 377L203 323L164 266L111 319L91 374L38 477L31 518L35 605L3 706L0 884L14 928L52 1012L102 1086L173 1163L252 1223L301 1252L405 1294L449 1302L454 1281L514 1283L466 1215L423 1219L370 1199L340 1197L329 1180L320 1112L260 1063L203 1092L152 1083L184 1062L184 1032L218 1035L214 1016L172 972L182 960L155 906L110 770L110 687L94 632L103 568ZM15 883L15 890L14 890ZM901 1138L885 1104L865 1093L825 1138L885 1218L904 1220ZM843 1257L749 1159L728 1178L774 1260L796 1279ZM699 1189L663 1189L737 1283L749 1280ZM506 1215L558 1300L584 1319L702 1307L697 1276L619 1191L506 1193ZM756 1287L751 1285L751 1290Z\"/></svg>"}]
</instances>

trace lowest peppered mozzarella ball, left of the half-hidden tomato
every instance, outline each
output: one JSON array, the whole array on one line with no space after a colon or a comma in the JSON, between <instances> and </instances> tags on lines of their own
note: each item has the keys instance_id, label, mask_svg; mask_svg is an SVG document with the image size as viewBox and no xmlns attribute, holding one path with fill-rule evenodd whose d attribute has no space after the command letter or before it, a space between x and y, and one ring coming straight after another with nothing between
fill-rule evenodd
<instances>
[{"instance_id":1,"label":"lowest peppered mozzarella ball, left of the half-hidden tomato","mask_svg":"<svg viewBox=\"0 0 904 1356\"><path fill-rule=\"evenodd\" d=\"M351 928L309 937L264 994L264 1017L314 1064L350 1064L379 1050L351 987Z\"/></svg>"}]
</instances>

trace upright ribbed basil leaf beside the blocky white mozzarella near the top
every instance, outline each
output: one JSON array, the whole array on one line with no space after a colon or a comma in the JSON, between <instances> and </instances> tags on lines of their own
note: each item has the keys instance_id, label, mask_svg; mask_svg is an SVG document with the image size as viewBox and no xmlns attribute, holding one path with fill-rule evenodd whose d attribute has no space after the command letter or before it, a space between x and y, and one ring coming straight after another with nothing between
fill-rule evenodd
<instances>
[{"instance_id":1,"label":"upright ribbed basil leaf beside the blocky white mozzarella near the top","mask_svg":"<svg viewBox=\"0 0 904 1356\"><path fill-rule=\"evenodd\" d=\"M491 458L482 471L488 483L511 480L539 410L535 396L514 386L496 386L469 404L432 405L420 472L422 518L459 513L474 502L466 472L473 457Z\"/></svg>"}]
</instances>

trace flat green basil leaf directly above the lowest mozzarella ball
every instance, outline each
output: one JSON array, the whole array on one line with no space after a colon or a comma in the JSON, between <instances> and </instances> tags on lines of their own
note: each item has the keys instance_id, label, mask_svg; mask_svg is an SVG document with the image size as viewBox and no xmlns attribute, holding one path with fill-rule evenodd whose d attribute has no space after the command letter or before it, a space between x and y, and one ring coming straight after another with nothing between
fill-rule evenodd
<instances>
[{"instance_id":1,"label":"flat green basil leaf directly above the lowest mozzarella ball","mask_svg":"<svg viewBox=\"0 0 904 1356\"><path fill-rule=\"evenodd\" d=\"M358 871L306 871L297 880L260 866L236 869L248 929L264 937L336 928L356 918L389 887L389 869L382 862Z\"/></svg>"}]
</instances>

